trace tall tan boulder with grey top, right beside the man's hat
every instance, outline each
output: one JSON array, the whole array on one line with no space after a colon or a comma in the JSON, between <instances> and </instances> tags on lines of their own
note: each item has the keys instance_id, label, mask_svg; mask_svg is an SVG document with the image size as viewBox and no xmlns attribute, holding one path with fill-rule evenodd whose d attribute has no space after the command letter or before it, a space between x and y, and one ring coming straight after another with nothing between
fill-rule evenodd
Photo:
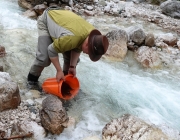
<instances>
[{"instance_id":1,"label":"tall tan boulder with grey top, right beside the man's hat","mask_svg":"<svg viewBox=\"0 0 180 140\"><path fill-rule=\"evenodd\" d=\"M119 29L107 33L109 48L106 57L117 61L122 61L127 54L128 36L126 31Z\"/></svg>"}]
</instances>

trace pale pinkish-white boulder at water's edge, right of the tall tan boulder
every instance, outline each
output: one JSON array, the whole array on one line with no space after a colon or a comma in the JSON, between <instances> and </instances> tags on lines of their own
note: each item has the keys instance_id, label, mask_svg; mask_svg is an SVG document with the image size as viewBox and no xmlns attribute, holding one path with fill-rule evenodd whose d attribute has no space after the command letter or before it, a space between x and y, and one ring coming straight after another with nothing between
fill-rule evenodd
<instances>
[{"instance_id":1,"label":"pale pinkish-white boulder at water's edge, right of the tall tan boulder","mask_svg":"<svg viewBox=\"0 0 180 140\"><path fill-rule=\"evenodd\" d=\"M158 53L147 46L138 48L135 52L135 58L146 68L159 68L162 63Z\"/></svg>"}]
</instances>

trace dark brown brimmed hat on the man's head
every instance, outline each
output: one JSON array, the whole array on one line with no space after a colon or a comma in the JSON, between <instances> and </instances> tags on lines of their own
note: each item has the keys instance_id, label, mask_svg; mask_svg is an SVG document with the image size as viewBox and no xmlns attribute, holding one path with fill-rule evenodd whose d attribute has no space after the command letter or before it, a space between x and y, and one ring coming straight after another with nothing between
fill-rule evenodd
<instances>
[{"instance_id":1,"label":"dark brown brimmed hat on the man's head","mask_svg":"<svg viewBox=\"0 0 180 140\"><path fill-rule=\"evenodd\" d=\"M109 42L106 36L94 29L88 38L88 54L92 61L98 61L106 53Z\"/></svg>"}]
</instances>

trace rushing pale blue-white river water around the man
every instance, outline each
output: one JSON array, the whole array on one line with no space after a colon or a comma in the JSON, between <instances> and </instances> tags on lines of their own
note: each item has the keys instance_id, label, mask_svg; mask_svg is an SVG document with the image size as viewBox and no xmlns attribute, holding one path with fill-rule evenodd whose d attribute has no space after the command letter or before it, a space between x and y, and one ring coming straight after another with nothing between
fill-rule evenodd
<instances>
[{"instance_id":1,"label":"rushing pale blue-white river water around the man","mask_svg":"<svg viewBox=\"0 0 180 140\"><path fill-rule=\"evenodd\" d=\"M0 45L7 51L7 56L0 62L4 71L18 82L22 96L27 90L26 77L37 45L36 20L23 17L23 11L17 0L0 0ZM87 20L103 33L131 25L128 21L115 24L112 22L116 20L114 17L89 17ZM157 34L163 32L153 24L146 25L142 21L136 24ZM55 69L51 65L43 71L39 81L42 83L54 76ZM82 54L77 77L82 92L71 101L68 110L68 115L75 118L76 126L54 136L56 139L80 140L93 135L100 138L105 124L123 114L135 115L180 139L179 69L144 69L134 60L132 52L128 52L123 62L105 59L91 62Z\"/></svg>"}]
</instances>

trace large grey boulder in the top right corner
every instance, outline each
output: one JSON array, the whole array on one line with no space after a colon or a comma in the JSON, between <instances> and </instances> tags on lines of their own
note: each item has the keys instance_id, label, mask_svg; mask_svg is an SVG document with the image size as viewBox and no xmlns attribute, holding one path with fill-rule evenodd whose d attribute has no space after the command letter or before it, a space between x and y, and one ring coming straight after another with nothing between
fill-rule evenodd
<instances>
[{"instance_id":1,"label":"large grey boulder in the top right corner","mask_svg":"<svg viewBox=\"0 0 180 140\"><path fill-rule=\"evenodd\" d=\"M162 13L180 19L180 1L166 1L160 5Z\"/></svg>"}]
</instances>

